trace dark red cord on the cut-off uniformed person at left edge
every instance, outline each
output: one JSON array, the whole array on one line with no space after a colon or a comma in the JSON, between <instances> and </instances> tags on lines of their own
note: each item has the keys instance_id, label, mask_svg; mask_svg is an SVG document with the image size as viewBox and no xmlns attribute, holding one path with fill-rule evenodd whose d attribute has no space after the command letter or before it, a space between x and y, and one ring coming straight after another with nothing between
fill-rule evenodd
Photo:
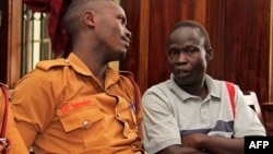
<instances>
[{"instance_id":1,"label":"dark red cord on the cut-off uniformed person at left edge","mask_svg":"<svg viewBox=\"0 0 273 154\"><path fill-rule=\"evenodd\" d=\"M5 130L7 130L7 123L8 123L8 114L9 114L9 95L8 95L8 91L4 87L4 85L0 84L2 91L3 91L3 95L4 95L4 103L5 103L5 107L4 107L4 112L3 112L3 119L2 119L2 128L1 128L1 133L0 133L0 138L4 139L5 135ZM2 154L7 153L7 149L9 149L9 140L7 140L7 144L3 145L3 150L2 150Z\"/></svg>"}]
</instances>

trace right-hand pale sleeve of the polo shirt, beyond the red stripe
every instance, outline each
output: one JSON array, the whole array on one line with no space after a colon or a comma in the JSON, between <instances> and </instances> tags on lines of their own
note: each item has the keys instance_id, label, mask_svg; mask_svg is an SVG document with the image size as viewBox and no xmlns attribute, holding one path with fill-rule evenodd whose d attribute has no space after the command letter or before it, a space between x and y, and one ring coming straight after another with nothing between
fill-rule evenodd
<instances>
[{"instance_id":1,"label":"right-hand pale sleeve of the polo shirt, beyond the red stripe","mask_svg":"<svg viewBox=\"0 0 273 154\"><path fill-rule=\"evenodd\" d=\"M246 135L265 135L265 129L258 115L250 108L244 99L241 90L236 86L236 117L235 117L235 138Z\"/></svg>"}]
</instances>

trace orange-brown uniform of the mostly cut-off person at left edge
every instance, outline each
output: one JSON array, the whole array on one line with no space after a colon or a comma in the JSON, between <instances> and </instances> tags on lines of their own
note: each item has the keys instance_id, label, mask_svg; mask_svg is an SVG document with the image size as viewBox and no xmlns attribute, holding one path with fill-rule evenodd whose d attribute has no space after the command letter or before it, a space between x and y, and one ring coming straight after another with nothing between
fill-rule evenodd
<instances>
[{"instance_id":1,"label":"orange-brown uniform of the mostly cut-off person at left edge","mask_svg":"<svg viewBox=\"0 0 273 154\"><path fill-rule=\"evenodd\" d=\"M1 84L0 86L4 86ZM2 132L2 119L5 108L5 96L0 88L0 132ZM28 151L20 135L17 128L15 127L13 115L11 108L8 108L8 123L5 129L5 139L10 140L10 149L7 151L7 154L28 154ZM0 145L0 151L3 149L2 144ZM0 152L1 153L1 152Z\"/></svg>"}]
</instances>

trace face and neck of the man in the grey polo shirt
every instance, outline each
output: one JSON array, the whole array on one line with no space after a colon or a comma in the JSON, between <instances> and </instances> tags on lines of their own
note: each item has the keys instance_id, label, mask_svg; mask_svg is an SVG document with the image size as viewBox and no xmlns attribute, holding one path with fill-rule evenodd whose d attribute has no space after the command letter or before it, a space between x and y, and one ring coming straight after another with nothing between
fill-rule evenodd
<instances>
[{"instance_id":1,"label":"face and neck of the man in the grey polo shirt","mask_svg":"<svg viewBox=\"0 0 273 154\"><path fill-rule=\"evenodd\" d=\"M205 70L213 52L212 49L204 49L202 45L204 40L194 39L192 36L198 37L199 33L198 29L192 31L190 27L176 29L170 35L170 39L178 43L169 45L168 62L176 83L189 94L204 98L207 94L204 84Z\"/></svg>"}]
</instances>

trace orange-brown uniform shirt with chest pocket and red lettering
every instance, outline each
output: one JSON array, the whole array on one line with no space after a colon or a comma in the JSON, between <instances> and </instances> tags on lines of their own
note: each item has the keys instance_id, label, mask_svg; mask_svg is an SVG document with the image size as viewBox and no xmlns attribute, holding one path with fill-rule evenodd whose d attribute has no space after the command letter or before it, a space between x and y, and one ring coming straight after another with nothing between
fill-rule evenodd
<instances>
[{"instance_id":1,"label":"orange-brown uniform shirt with chest pocket and red lettering","mask_svg":"<svg viewBox=\"0 0 273 154\"><path fill-rule=\"evenodd\" d=\"M11 99L27 147L35 154L140 154L142 108L134 87L110 68L105 75L103 87L73 52L38 62Z\"/></svg>"}]
</instances>

